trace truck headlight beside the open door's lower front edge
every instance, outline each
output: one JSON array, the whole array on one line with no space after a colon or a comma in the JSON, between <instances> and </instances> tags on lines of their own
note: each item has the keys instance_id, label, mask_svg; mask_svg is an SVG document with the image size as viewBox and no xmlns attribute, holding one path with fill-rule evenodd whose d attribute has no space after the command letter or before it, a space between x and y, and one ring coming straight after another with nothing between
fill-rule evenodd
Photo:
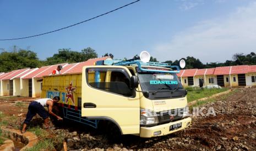
<instances>
[{"instance_id":1,"label":"truck headlight beside the open door's lower front edge","mask_svg":"<svg viewBox=\"0 0 256 151\"><path fill-rule=\"evenodd\" d=\"M155 112L140 109L140 125L157 124L158 118Z\"/></svg>"}]
</instances>

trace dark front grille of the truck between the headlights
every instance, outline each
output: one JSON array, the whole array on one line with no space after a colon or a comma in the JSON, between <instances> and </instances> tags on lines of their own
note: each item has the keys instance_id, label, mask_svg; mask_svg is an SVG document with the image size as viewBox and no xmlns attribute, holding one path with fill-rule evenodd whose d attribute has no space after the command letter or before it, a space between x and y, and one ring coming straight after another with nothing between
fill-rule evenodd
<instances>
[{"instance_id":1,"label":"dark front grille of the truck between the headlights","mask_svg":"<svg viewBox=\"0 0 256 151\"><path fill-rule=\"evenodd\" d=\"M159 123L162 123L166 121L181 119L182 114L183 114L183 108L178 108L178 109L172 109L170 111L157 112L157 118L159 120Z\"/></svg>"}]
</instances>

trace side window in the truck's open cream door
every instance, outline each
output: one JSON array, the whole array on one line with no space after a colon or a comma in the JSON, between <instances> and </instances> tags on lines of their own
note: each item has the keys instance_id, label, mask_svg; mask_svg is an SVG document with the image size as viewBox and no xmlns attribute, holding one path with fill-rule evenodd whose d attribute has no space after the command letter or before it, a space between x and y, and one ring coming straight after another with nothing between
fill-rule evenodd
<instances>
[{"instance_id":1,"label":"side window in the truck's open cream door","mask_svg":"<svg viewBox=\"0 0 256 151\"><path fill-rule=\"evenodd\" d=\"M123 69L89 69L86 80L96 89L131 97L134 92L130 89L130 79ZM110 77L108 77L110 75Z\"/></svg>"}]
</instances>

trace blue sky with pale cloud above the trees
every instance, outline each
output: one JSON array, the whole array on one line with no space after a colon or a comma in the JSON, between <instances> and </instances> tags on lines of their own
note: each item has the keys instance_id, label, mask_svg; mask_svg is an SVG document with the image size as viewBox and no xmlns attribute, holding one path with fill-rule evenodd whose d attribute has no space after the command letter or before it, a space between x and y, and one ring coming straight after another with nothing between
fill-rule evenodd
<instances>
[{"instance_id":1,"label":"blue sky with pale cloud above the trees","mask_svg":"<svg viewBox=\"0 0 256 151\"><path fill-rule=\"evenodd\" d=\"M133 1L0 0L0 39L56 30ZM35 51L41 60L58 49L91 47L98 56L112 53L115 59L146 50L159 61L194 56L203 63L225 62L235 53L256 53L256 1L141 0L62 31L0 41L5 50L13 45Z\"/></svg>"}]
</instances>

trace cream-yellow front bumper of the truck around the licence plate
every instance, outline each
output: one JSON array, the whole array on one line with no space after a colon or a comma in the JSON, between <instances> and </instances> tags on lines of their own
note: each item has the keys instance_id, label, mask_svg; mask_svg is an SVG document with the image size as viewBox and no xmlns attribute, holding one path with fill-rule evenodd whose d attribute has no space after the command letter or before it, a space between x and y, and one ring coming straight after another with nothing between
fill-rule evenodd
<instances>
[{"instance_id":1,"label":"cream-yellow front bumper of the truck around the licence plate","mask_svg":"<svg viewBox=\"0 0 256 151\"><path fill-rule=\"evenodd\" d=\"M182 123L182 126L175 130L170 130L170 126L174 124ZM140 127L140 137L150 138L155 136L168 135L176 131L180 131L188 127L191 123L191 118L186 118L178 121L174 121L167 124L152 126L152 127Z\"/></svg>"}]
</instances>

